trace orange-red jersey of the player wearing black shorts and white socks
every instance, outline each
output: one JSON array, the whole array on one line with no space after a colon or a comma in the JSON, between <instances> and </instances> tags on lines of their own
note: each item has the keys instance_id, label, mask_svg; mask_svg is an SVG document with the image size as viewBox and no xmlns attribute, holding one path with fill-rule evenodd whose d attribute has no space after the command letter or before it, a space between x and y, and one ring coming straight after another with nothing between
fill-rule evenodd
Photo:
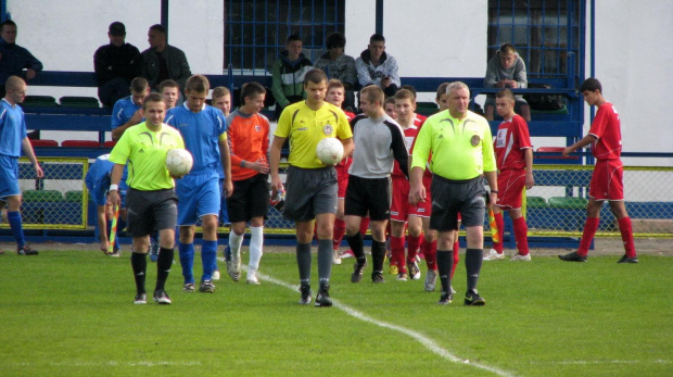
<instances>
[{"instance_id":1,"label":"orange-red jersey of the player wearing black shorts and white socks","mask_svg":"<svg viewBox=\"0 0 673 377\"><path fill-rule=\"evenodd\" d=\"M227 116L227 142L231 153L231 180L243 180L258 174L241 167L241 161L267 161L269 121L262 114L243 114L238 110Z\"/></svg>"}]
</instances>

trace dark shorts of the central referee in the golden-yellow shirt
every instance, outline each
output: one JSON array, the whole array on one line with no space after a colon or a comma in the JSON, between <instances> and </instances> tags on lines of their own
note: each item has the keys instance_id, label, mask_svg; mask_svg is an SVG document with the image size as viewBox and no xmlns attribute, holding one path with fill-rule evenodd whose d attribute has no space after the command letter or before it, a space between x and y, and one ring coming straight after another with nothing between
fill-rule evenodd
<instances>
[{"instance_id":1,"label":"dark shorts of the central referee in the golden-yellow shirt","mask_svg":"<svg viewBox=\"0 0 673 377\"><path fill-rule=\"evenodd\" d=\"M336 213L336 169L290 166L285 179L282 215L293 222L309 222L322 213Z\"/></svg>"}]
</instances>

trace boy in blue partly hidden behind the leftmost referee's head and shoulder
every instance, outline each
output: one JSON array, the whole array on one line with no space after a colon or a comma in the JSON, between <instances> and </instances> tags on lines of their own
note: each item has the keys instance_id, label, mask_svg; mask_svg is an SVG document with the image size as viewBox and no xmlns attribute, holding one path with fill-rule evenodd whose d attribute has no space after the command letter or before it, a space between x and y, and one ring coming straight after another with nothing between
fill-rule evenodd
<instances>
[{"instance_id":1,"label":"boy in blue partly hidden behind the leftmost referee's head and shoulder","mask_svg":"<svg viewBox=\"0 0 673 377\"><path fill-rule=\"evenodd\" d=\"M131 95L118 100L112 109L112 139L119 140L124 131L142 122L142 101L150 93L150 85L142 77L131 80Z\"/></svg>"}]
</instances>

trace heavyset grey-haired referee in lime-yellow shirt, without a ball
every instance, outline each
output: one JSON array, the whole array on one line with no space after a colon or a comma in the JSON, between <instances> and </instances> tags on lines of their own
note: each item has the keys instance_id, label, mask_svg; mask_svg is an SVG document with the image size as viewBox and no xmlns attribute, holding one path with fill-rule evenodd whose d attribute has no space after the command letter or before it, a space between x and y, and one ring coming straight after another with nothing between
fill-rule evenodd
<instances>
[{"instance_id":1,"label":"heavyset grey-haired referee in lime-yellow shirt, without a ball","mask_svg":"<svg viewBox=\"0 0 673 377\"><path fill-rule=\"evenodd\" d=\"M484 305L477 292L477 281L483 257L484 214L486 190L483 177L491 187L488 206L497 200L497 173L493 138L486 120L468 110L470 89L460 81L446 88L448 109L429 117L419 131L411 155L409 202L426 200L422 183L428 156L432 153L432 214L430 228L439 233L437 268L442 282L440 304L453 301L450 269L453 264L454 230L458 229L458 213L467 230L468 248L465 264L468 287L466 305Z\"/></svg>"}]
</instances>

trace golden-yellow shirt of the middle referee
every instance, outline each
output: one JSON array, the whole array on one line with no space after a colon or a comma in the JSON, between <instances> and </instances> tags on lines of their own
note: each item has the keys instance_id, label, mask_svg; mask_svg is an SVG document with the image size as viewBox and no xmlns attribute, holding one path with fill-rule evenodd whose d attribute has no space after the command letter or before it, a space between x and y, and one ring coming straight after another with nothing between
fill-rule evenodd
<instances>
[{"instance_id":1,"label":"golden-yellow shirt of the middle referee","mask_svg":"<svg viewBox=\"0 0 673 377\"><path fill-rule=\"evenodd\" d=\"M341 109L325 102L318 111L313 111L301 101L283 110L274 136L290 138L290 165L318 168L325 167L316 155L318 142L328 137L348 139L353 133Z\"/></svg>"}]
</instances>

